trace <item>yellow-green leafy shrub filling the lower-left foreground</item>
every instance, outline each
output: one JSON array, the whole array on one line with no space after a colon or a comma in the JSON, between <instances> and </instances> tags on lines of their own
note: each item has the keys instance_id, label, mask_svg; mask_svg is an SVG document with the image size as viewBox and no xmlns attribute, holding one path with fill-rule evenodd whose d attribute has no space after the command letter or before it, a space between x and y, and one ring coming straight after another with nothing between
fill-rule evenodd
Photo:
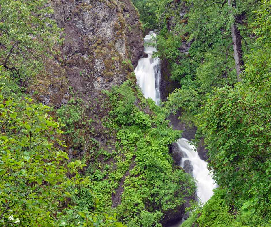
<instances>
[{"instance_id":1,"label":"yellow-green leafy shrub filling the lower-left foreground","mask_svg":"<svg viewBox=\"0 0 271 227\"><path fill-rule=\"evenodd\" d=\"M1 72L0 92L9 82ZM14 97L18 97L13 94ZM116 215L98 214L99 199L77 169L66 162L60 123L51 109L30 98L15 102L0 94L0 223L3 226L124 226ZM69 177L68 177L69 175ZM68 199L73 203L60 210ZM67 205L66 205L67 206Z\"/></svg>"}]
</instances>

